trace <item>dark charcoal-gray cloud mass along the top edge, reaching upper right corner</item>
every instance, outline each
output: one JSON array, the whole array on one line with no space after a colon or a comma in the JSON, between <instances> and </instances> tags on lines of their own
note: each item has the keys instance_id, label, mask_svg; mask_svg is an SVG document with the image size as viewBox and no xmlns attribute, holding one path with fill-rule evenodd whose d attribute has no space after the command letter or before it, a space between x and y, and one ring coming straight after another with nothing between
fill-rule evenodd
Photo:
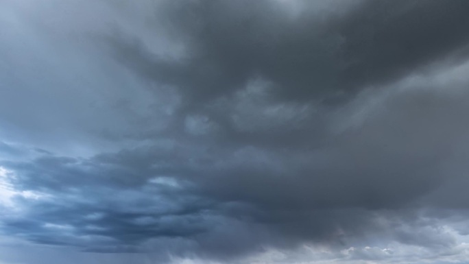
<instances>
[{"instance_id":1,"label":"dark charcoal-gray cloud mass along the top edge, reaching upper right corner","mask_svg":"<svg viewBox=\"0 0 469 264\"><path fill-rule=\"evenodd\" d=\"M348 12L335 6L321 14L319 3L296 1L301 10L294 15L283 5L165 5L158 22L189 43L180 60L152 55L132 36L113 44L132 69L204 103L256 76L272 81L282 100L324 99L395 80L468 43L464 1L362 1Z\"/></svg>"}]
</instances>

